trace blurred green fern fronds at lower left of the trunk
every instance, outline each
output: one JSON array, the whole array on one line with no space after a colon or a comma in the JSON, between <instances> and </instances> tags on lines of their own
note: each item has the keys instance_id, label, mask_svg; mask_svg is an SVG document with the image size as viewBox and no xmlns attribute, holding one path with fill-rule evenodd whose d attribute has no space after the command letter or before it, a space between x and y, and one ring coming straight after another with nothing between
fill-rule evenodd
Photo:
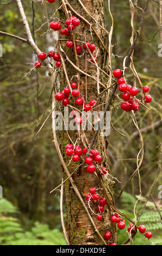
<instances>
[{"instance_id":1,"label":"blurred green fern fronds at lower left of the trunk","mask_svg":"<svg viewBox=\"0 0 162 256\"><path fill-rule=\"evenodd\" d=\"M17 217L10 215L18 211L6 199L0 200L0 245L66 245L58 229L35 222L30 231L24 230Z\"/></svg>"}]
</instances>

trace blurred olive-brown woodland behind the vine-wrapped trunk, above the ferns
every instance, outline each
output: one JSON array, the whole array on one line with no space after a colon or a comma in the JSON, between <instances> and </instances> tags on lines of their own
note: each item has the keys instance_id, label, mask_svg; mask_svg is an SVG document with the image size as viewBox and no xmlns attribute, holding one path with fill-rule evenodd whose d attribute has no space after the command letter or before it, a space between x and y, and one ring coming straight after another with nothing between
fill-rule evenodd
<instances>
[{"instance_id":1,"label":"blurred olive-brown woodland behind the vine-wrapped trunk, above the ferns","mask_svg":"<svg viewBox=\"0 0 162 256\"><path fill-rule=\"evenodd\" d=\"M139 6L144 5L142 2L138 1ZM48 34L44 34L47 30L47 22L42 1L22 1L22 3L39 48L45 52L52 50L51 38ZM52 9L47 5L49 16L57 9L57 1L53 7ZM114 58L112 61L115 69L122 66L123 58L127 56L130 48L131 16L129 1L110 1L110 8L114 19L112 39ZM135 30L138 29L140 17L140 10L135 9ZM0 4L0 21L1 31L17 36L23 35L23 24L15 1ZM111 17L106 0L105 21L109 31ZM160 32L156 33L159 30L158 26L159 4L150 1L144 27L134 51L136 71L142 84L149 86L153 97L149 110L141 107L136 114L144 139L144 161L140 168L142 196L144 197L149 195L160 162L162 74L158 46L162 42ZM43 89L48 74L46 70L43 72L41 69L41 72L33 70L31 74L24 77L24 74L30 70L30 63L34 63L36 59L32 48L22 41L2 34L0 34L0 44L3 45L3 57L0 58L0 183L3 186L3 197L20 210L21 221L25 223L27 229L33 227L36 221L40 221L49 224L51 229L61 230L59 192L49 193L61 183L60 162L52 144L51 118L47 120L35 138L40 124L51 111L51 101L48 102L51 94L50 81ZM127 80L133 85L132 74L127 75ZM47 111L43 117L46 107ZM111 127L111 134L108 138L112 175L121 181L120 184L116 182L114 186L116 204L117 208L123 211L122 198L127 198L130 194L135 199L139 194L139 178L138 175L134 176L125 189L126 193L117 202L121 187L136 169L136 160L122 159L136 159L140 150L140 140L129 113L123 113L120 109L113 111L111 122L117 131L126 135L126 137L121 136ZM161 176L158 175L157 178L153 198L161 209L161 201L158 199ZM128 208L129 203L127 202L124 207L126 205ZM142 205L144 202L140 202L138 214ZM154 206L147 207L146 209L155 210ZM153 234L158 236L160 228L158 226Z\"/></svg>"}]
</instances>

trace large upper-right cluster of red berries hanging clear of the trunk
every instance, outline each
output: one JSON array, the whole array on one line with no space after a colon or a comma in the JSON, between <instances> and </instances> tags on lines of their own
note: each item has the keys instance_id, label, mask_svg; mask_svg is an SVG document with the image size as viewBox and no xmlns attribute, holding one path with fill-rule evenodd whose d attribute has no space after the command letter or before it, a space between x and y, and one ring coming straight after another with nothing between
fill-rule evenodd
<instances>
[{"instance_id":1,"label":"large upper-right cluster of red berries hanging clear of the trunk","mask_svg":"<svg viewBox=\"0 0 162 256\"><path fill-rule=\"evenodd\" d=\"M122 71L120 69L115 69L113 71L113 75L117 79L117 83L119 84L119 91L122 92L122 99L124 102L121 103L121 108L126 111L138 111L140 108L139 103L135 99L135 96L138 95L139 90L136 87L130 86L130 84L126 84L126 81L122 77ZM152 101L151 95L145 95L149 92L149 87L144 86L142 88L142 93L144 93L144 101L145 103L149 103Z\"/></svg>"}]
</instances>

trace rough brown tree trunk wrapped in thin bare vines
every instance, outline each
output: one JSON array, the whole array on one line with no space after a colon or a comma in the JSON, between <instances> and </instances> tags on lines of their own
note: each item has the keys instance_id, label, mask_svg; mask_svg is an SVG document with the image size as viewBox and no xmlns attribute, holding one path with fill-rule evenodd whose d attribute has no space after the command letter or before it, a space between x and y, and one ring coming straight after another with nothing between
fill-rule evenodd
<instances>
[{"instance_id":1,"label":"rough brown tree trunk wrapped in thin bare vines","mask_svg":"<svg viewBox=\"0 0 162 256\"><path fill-rule=\"evenodd\" d=\"M89 42L90 44L95 44L96 50L93 53L93 56L97 57L97 65L99 68L104 70L104 48L103 45L106 44L107 34L105 31L99 26L101 25L104 27L104 5L102 0L87 0L81 1L84 4L84 7L86 10L88 10L89 14L91 14L95 20L92 20L90 15L86 13L86 11L83 9L82 5L79 3L79 1L70 0L66 3L64 1L60 0L60 4L63 3L63 6L59 9L60 12L60 20L66 21L68 18L68 15L76 16L80 20L80 25L74 30L73 35L74 39L82 42ZM74 13L72 8L77 12ZM70 11L70 12L68 12ZM84 20L81 19L80 16L77 16L79 14L80 16L84 17L88 22L91 24L90 26L88 23L86 23ZM99 25L96 25L96 22L98 22ZM97 32L94 33L93 28ZM73 40L68 39L67 36L62 36L62 39L66 40ZM100 38L100 40L99 40ZM67 47L65 46L66 40L61 40L60 45L61 48L67 51ZM102 42L101 42L102 40ZM83 46L82 43L76 41L77 45ZM103 72L101 72L99 69L96 68L96 65L92 64L88 60L90 60L91 56L88 51L82 50L82 53L78 55L78 62L76 60L76 56L74 52L71 50L67 51L67 57L71 60L71 62L78 66L78 68L85 73L95 76L99 78L99 81L101 82L99 86L97 85L97 81L92 80L91 77L86 77L82 72L78 72L73 65L66 60L66 72L68 79L70 82L76 82L78 84L78 89L80 91L80 94L83 95L85 99L85 103L89 103L90 100L96 100L97 105L102 105L105 102L106 94L101 94L101 96L98 97L98 93L101 93L104 88L104 83L106 82L106 78L103 75ZM65 77L65 70L61 68L60 71L60 91L62 91L67 86L67 78ZM73 98L70 99L70 105L77 107L74 105ZM83 107L83 106L82 106ZM104 105L101 107L97 107L94 110L104 111ZM78 107L77 107L78 108ZM80 111L82 108L78 108ZM64 110L64 109L62 109ZM69 112L72 109L69 109ZM94 131L85 131L85 133L82 133L82 131L70 131L68 130L68 135L72 138L72 141L76 143L77 145L80 145L83 148L89 147L91 143L91 139L94 136ZM80 157L80 161L77 163L70 162L69 160L71 157L67 157L65 154L65 146L68 143L71 143L69 137L67 135L67 132L60 132L59 135L59 141L60 141L60 150L62 155L64 156L64 161L66 163L66 166L68 168L68 171L70 173L73 172L74 169L76 169L80 163L84 161L82 157ZM85 137L84 137L85 135ZM64 143L63 143L64 142ZM97 137L96 142L94 144L93 149L97 149L99 151L99 154L102 156L102 167L108 166L108 156L105 150L107 143L107 137ZM67 179L67 174L64 172L64 180ZM72 175L72 179L76 187L78 188L78 191L80 195L82 196L85 204L88 206L88 203L85 201L86 194L90 193L89 189L91 187L95 187L97 189L97 192L100 194L101 197L105 197L104 190L101 187L101 182L97 178L97 175L90 174L86 170L86 164L82 164L76 172ZM111 202L113 202L112 194L110 191L113 191L113 182L107 178L101 178L103 182L108 186L109 192L108 196L111 198ZM112 237L109 241L105 240L105 243L101 236L98 235L98 233L94 230L94 226L91 223L90 218L88 217L83 204L80 202L76 192L74 192L73 187L71 186L71 182L68 179L64 184L64 191L65 191L65 202L66 202L66 233L69 240L70 245L104 245L105 243L111 243L111 242L117 242L117 235L116 235L116 227L114 223L110 222L110 216L111 216L111 209L109 205L105 206L104 212L103 212L103 219L102 221L98 221L96 218L97 214L97 206L98 202L91 203L91 209L89 209L90 215L92 217L92 220L94 220L96 227L101 234L101 236L104 236L104 233L106 231L110 231L112 234ZM111 194L111 195L110 195ZM94 211L95 214L92 212Z\"/></svg>"}]
</instances>

